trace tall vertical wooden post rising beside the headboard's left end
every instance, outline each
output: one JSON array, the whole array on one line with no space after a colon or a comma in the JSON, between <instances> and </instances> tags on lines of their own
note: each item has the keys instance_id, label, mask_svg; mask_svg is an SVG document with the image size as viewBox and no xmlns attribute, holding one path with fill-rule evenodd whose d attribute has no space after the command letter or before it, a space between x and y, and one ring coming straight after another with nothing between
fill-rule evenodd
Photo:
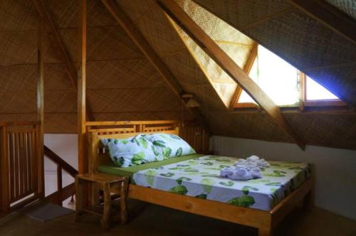
<instances>
[{"instance_id":1,"label":"tall vertical wooden post rising beside the headboard's left end","mask_svg":"<svg viewBox=\"0 0 356 236\"><path fill-rule=\"evenodd\" d=\"M78 73L78 171L87 172L85 149L85 88L86 88L86 53L87 53L87 1L80 0L79 7L80 69Z\"/></svg>"}]
</instances>

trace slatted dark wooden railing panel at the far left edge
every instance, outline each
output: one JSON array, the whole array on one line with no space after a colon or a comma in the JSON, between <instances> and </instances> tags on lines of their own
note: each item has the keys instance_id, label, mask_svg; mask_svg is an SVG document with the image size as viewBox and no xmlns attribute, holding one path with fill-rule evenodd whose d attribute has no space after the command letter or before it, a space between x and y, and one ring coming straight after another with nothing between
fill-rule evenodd
<instances>
[{"instance_id":1,"label":"slatted dark wooden railing panel at the far left edge","mask_svg":"<svg viewBox=\"0 0 356 236\"><path fill-rule=\"evenodd\" d=\"M40 122L0 123L0 215L43 198Z\"/></svg>"}]
</instances>

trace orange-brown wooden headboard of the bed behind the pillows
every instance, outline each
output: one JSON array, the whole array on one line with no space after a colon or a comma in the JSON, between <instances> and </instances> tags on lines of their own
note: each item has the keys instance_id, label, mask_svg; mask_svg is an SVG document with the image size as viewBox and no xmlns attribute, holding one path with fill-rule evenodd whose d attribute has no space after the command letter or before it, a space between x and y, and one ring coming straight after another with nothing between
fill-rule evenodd
<instances>
[{"instance_id":1,"label":"orange-brown wooden headboard of the bed behind the pillows","mask_svg":"<svg viewBox=\"0 0 356 236\"><path fill-rule=\"evenodd\" d=\"M142 133L179 135L179 122L87 122L89 173L98 171L100 165L112 162L110 156L105 153L101 139L125 139Z\"/></svg>"}]
</instances>

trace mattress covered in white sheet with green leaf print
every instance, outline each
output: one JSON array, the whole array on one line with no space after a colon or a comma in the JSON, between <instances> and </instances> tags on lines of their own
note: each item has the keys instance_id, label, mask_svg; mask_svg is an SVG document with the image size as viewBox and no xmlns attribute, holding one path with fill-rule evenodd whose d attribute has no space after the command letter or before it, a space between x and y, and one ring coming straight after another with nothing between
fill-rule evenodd
<instances>
[{"instance_id":1,"label":"mattress covered in white sheet with green leaf print","mask_svg":"<svg viewBox=\"0 0 356 236\"><path fill-rule=\"evenodd\" d=\"M155 167L146 166L133 174L131 172L130 176L139 186L271 210L311 174L308 163L269 161L271 167L261 170L262 178L249 181L221 178L220 169L233 166L236 160L225 156L196 156L187 160L181 158L174 163L159 161Z\"/></svg>"}]
</instances>

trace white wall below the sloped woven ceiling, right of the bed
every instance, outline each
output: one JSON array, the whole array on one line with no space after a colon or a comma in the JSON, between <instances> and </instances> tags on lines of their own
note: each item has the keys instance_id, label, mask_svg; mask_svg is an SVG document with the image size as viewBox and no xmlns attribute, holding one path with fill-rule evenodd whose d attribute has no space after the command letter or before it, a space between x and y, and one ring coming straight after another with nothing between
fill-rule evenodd
<instances>
[{"instance_id":1,"label":"white wall below the sloped woven ceiling, right of the bed","mask_svg":"<svg viewBox=\"0 0 356 236\"><path fill-rule=\"evenodd\" d=\"M356 151L284 144L222 136L211 138L216 155L246 158L257 155L273 161L303 161L315 166L315 205L356 220Z\"/></svg>"}]
</instances>

